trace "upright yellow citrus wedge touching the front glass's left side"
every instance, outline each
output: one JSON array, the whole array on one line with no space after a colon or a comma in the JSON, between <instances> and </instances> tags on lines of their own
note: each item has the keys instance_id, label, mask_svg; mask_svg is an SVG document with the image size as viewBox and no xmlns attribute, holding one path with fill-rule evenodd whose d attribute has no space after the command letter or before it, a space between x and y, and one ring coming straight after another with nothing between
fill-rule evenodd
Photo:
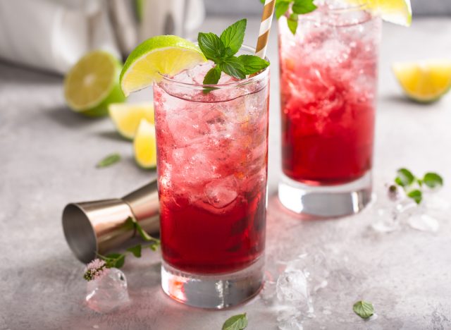
<instances>
[{"instance_id":1,"label":"upright yellow citrus wedge touching the front glass's left side","mask_svg":"<svg viewBox=\"0 0 451 330\"><path fill-rule=\"evenodd\" d=\"M141 119L135 140L133 140L135 161L143 169L156 167L155 126L146 119Z\"/></svg>"}]
</instances>

